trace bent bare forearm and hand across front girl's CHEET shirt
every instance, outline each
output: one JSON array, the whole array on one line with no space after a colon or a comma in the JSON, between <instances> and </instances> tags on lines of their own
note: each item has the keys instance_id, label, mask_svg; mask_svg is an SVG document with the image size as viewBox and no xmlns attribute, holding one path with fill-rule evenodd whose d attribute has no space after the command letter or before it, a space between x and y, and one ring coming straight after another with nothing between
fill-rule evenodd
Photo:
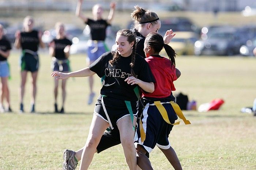
<instances>
[{"instance_id":1,"label":"bent bare forearm and hand across front girl's CHEET shirt","mask_svg":"<svg viewBox=\"0 0 256 170\"><path fill-rule=\"evenodd\" d=\"M153 93L155 90L155 86L153 82L144 82L133 76L128 77L124 81L127 81L127 83L131 85L138 84L144 91L148 93Z\"/></svg>"}]
</instances>

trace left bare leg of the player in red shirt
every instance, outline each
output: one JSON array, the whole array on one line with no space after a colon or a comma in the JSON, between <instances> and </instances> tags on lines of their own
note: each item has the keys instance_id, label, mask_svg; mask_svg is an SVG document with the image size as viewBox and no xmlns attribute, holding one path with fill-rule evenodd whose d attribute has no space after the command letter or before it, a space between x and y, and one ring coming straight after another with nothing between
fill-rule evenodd
<instances>
[{"instance_id":1,"label":"left bare leg of the player in red shirt","mask_svg":"<svg viewBox=\"0 0 256 170\"><path fill-rule=\"evenodd\" d=\"M137 165L142 169L142 170L153 170L151 166L151 162L149 161L148 157L146 156L146 150L140 146L139 144L137 145L136 148L137 152Z\"/></svg>"}]
</instances>

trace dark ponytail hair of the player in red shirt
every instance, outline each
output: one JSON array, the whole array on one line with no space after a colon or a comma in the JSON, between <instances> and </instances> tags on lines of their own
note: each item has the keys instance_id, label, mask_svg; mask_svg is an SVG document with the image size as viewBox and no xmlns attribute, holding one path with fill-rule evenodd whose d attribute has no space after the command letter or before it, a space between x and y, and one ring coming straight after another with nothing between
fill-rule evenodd
<instances>
[{"instance_id":1,"label":"dark ponytail hair of the player in red shirt","mask_svg":"<svg viewBox=\"0 0 256 170\"><path fill-rule=\"evenodd\" d=\"M163 37L162 35L156 33L156 32L151 32L147 35L145 39L145 43L152 47L156 53L160 53L160 51L164 48L170 61L171 65L175 66L175 57L176 53L173 50L173 48L163 42Z\"/></svg>"}]
</instances>

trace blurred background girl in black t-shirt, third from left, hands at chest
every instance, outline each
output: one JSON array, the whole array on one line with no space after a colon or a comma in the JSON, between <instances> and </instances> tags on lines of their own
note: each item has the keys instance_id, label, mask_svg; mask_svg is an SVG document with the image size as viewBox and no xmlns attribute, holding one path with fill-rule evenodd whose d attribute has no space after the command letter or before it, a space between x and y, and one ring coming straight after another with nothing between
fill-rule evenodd
<instances>
[{"instance_id":1,"label":"blurred background girl in black t-shirt, third from left, hands at chest","mask_svg":"<svg viewBox=\"0 0 256 170\"><path fill-rule=\"evenodd\" d=\"M49 53L52 56L52 69L53 71L70 72L69 67L69 49L72 45L72 42L66 38L65 36L65 28L64 24L57 22L55 24L56 29L56 38L52 40L49 44ZM67 80L62 80L61 88L62 88L62 107L60 113L64 113L64 103L66 98L66 82ZM58 113L57 106L57 95L58 95L58 86L59 80L54 79L54 112Z\"/></svg>"}]
</instances>

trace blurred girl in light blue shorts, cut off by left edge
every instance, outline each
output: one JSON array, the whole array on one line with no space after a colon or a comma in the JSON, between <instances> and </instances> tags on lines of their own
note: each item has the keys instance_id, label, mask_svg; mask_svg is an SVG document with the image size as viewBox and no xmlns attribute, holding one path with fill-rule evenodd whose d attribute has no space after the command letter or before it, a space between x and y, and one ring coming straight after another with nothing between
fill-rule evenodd
<instances>
[{"instance_id":1,"label":"blurred girl in light blue shorts, cut off by left edge","mask_svg":"<svg viewBox=\"0 0 256 170\"><path fill-rule=\"evenodd\" d=\"M8 88L8 77L10 76L10 70L7 63L7 58L10 55L11 43L4 38L4 28L0 24L0 77L1 77L1 99L0 99L0 112L5 112L3 106L3 99L7 101L7 112L11 112L10 106L10 93Z\"/></svg>"}]
</instances>

